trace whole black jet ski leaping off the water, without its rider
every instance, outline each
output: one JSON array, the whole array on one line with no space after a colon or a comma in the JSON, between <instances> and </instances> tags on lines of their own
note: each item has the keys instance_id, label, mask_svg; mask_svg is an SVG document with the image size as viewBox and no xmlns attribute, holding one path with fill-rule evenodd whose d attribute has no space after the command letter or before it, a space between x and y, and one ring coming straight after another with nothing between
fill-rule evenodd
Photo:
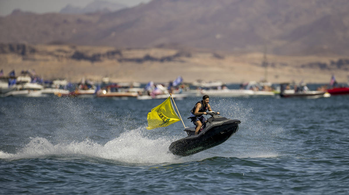
<instances>
[{"instance_id":1,"label":"whole black jet ski leaping off the water, without its rider","mask_svg":"<svg viewBox=\"0 0 349 195\"><path fill-rule=\"evenodd\" d=\"M239 120L232 120L217 115L215 112L207 112L211 115L203 124L203 129L195 135L195 127L186 127L187 137L172 142L169 150L172 154L188 156L207 150L225 142L239 129Z\"/></svg>"}]
</instances>

